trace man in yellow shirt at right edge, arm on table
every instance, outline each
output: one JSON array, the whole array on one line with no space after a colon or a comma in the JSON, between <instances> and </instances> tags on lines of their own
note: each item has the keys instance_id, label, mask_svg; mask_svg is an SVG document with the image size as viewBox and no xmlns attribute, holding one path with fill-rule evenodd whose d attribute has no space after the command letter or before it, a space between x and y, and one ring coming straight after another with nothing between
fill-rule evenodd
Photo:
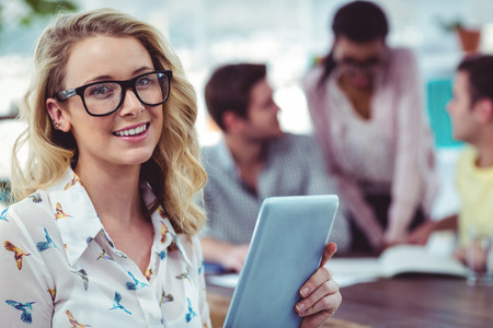
<instances>
[{"instance_id":1,"label":"man in yellow shirt at right edge, arm on table","mask_svg":"<svg viewBox=\"0 0 493 328\"><path fill-rule=\"evenodd\" d=\"M447 106L454 138L467 143L457 163L456 183L461 208L459 213L417 227L409 237L412 244L425 244L438 230L459 233L465 259L467 226L486 229L493 224L493 56L467 57L458 66L454 97Z\"/></svg>"}]
</instances>

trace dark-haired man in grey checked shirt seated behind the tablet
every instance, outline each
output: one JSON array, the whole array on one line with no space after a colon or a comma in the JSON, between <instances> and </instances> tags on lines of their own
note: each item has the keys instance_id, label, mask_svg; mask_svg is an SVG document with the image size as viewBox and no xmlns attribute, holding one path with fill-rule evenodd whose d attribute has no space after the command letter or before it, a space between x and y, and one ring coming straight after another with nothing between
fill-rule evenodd
<instances>
[{"instance_id":1,"label":"dark-haired man in grey checked shirt seated behind the tablet","mask_svg":"<svg viewBox=\"0 0 493 328\"><path fill-rule=\"evenodd\" d=\"M219 68L206 85L205 99L223 139L203 149L208 174L204 259L240 271L266 197L335 194L335 188L317 142L282 131L264 65ZM351 236L344 208L337 212L330 242L341 254L348 249Z\"/></svg>"}]
</instances>

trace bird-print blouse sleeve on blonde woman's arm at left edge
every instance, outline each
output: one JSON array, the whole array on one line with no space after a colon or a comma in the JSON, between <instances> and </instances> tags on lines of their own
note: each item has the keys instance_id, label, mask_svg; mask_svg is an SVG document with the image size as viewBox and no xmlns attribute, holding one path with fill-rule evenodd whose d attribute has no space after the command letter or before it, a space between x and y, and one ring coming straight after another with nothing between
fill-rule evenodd
<instances>
[{"instance_id":1,"label":"bird-print blouse sleeve on blonde woman's arm at left edge","mask_svg":"<svg viewBox=\"0 0 493 328\"><path fill-rule=\"evenodd\" d=\"M55 286L27 227L12 208L0 220L0 323L51 327Z\"/></svg>"}]
</instances>

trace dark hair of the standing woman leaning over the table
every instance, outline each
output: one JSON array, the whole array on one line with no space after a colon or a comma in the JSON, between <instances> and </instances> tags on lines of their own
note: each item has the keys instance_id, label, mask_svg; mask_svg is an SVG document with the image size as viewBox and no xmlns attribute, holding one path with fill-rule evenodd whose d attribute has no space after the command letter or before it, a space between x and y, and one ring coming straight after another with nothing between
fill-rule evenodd
<instances>
[{"instance_id":1,"label":"dark hair of the standing woman leaning over the table","mask_svg":"<svg viewBox=\"0 0 493 328\"><path fill-rule=\"evenodd\" d=\"M355 43L367 43L386 39L389 23L383 10L369 1L353 1L341 7L332 20L332 32L335 39L344 36ZM335 68L332 51L325 58L320 84L325 82Z\"/></svg>"}]
</instances>

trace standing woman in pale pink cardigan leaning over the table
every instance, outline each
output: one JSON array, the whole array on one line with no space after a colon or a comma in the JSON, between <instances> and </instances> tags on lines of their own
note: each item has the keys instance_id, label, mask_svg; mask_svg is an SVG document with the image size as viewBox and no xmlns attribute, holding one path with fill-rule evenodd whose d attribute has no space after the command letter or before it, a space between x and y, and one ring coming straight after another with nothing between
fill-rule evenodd
<instances>
[{"instance_id":1,"label":"standing woman in pale pink cardigan leaning over the table","mask_svg":"<svg viewBox=\"0 0 493 328\"><path fill-rule=\"evenodd\" d=\"M305 79L318 141L347 203L353 250L404 243L428 218L437 179L413 54L386 44L375 3L354 1L332 22L334 43Z\"/></svg>"}]
</instances>

